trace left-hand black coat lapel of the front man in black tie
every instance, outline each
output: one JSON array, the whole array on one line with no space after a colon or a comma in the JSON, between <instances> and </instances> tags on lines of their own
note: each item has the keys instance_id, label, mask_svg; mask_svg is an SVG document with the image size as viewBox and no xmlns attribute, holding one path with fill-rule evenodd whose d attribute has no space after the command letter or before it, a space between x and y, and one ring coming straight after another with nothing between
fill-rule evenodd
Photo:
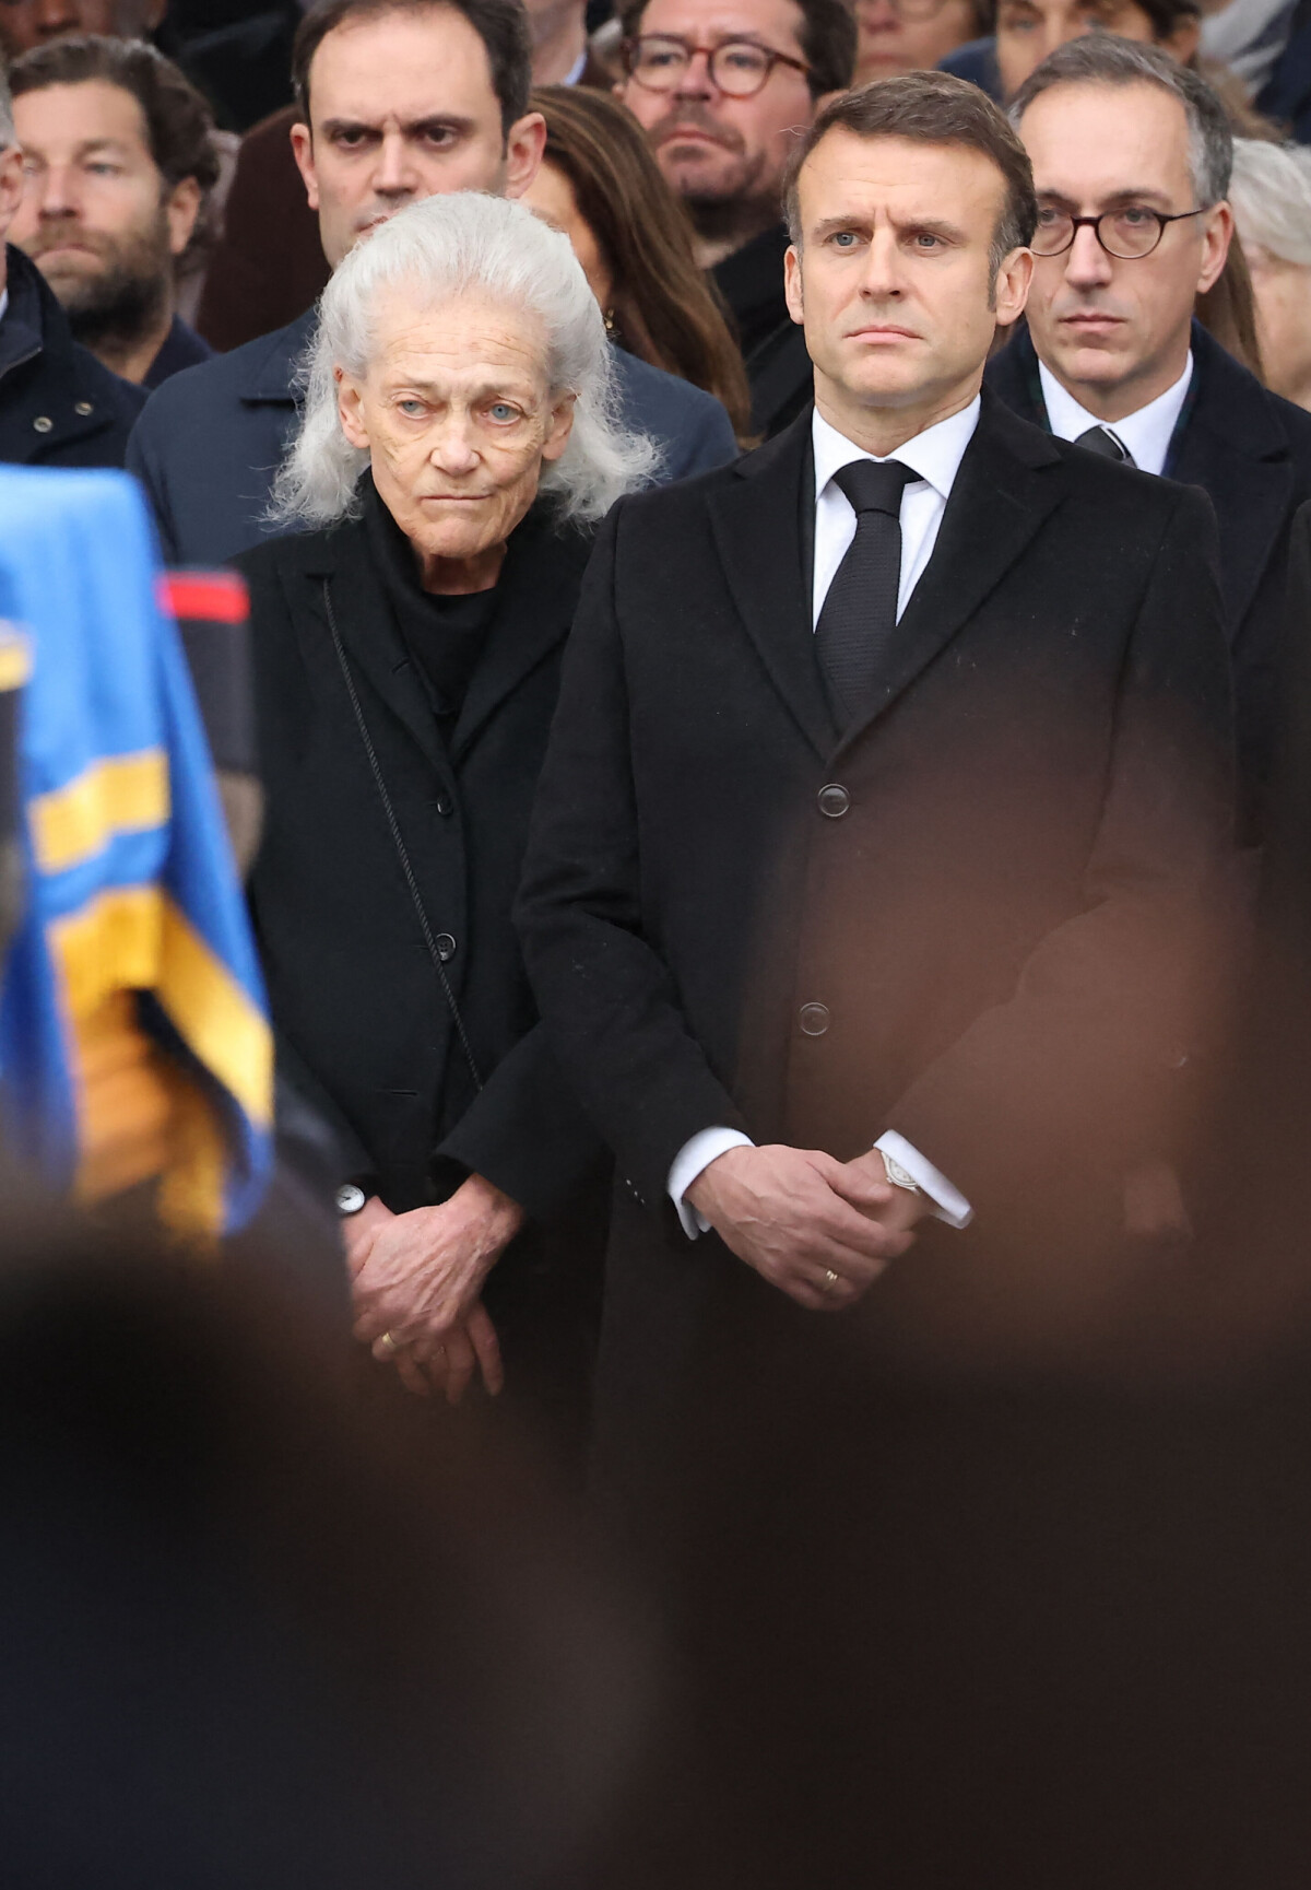
<instances>
[{"instance_id":1,"label":"left-hand black coat lapel of the front man in black tie","mask_svg":"<svg viewBox=\"0 0 1311 1890\"><path fill-rule=\"evenodd\" d=\"M761 663L810 747L827 758L835 730L814 658L799 529L810 463L807 410L776 440L733 467L737 476L710 497L710 529Z\"/></svg>"}]
</instances>

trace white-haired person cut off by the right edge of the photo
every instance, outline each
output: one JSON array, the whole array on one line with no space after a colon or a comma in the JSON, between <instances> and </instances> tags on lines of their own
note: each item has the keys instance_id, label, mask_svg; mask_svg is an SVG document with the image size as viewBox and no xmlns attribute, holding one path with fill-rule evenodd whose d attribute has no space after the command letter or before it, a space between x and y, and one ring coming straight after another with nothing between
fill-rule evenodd
<instances>
[{"instance_id":1,"label":"white-haired person cut off by the right edge of the photo","mask_svg":"<svg viewBox=\"0 0 1311 1890\"><path fill-rule=\"evenodd\" d=\"M1252 274L1266 386L1311 408L1311 149L1235 138L1230 202Z\"/></svg>"}]
</instances>

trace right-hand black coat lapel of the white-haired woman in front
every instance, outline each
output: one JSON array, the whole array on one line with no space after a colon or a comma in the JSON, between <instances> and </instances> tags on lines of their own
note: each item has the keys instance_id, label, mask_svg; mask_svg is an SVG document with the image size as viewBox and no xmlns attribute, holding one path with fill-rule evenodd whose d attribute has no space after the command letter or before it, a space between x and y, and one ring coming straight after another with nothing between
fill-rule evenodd
<instances>
[{"instance_id":1,"label":"right-hand black coat lapel of the white-haired woman in front","mask_svg":"<svg viewBox=\"0 0 1311 1890\"><path fill-rule=\"evenodd\" d=\"M474 665L455 724L455 760L467 754L501 703L569 635L589 550L587 533L552 529L546 507L535 507L512 535L487 644Z\"/></svg>"}]
</instances>

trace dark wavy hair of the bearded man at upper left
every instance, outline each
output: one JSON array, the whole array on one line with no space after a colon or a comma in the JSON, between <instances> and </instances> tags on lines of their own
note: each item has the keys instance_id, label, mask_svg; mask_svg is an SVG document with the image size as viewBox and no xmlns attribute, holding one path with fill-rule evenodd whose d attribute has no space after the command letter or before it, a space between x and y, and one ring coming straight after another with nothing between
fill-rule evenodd
<instances>
[{"instance_id":1,"label":"dark wavy hair of the bearded man at upper left","mask_svg":"<svg viewBox=\"0 0 1311 1890\"><path fill-rule=\"evenodd\" d=\"M210 108L170 59L144 40L110 40L87 34L38 45L9 66L9 89L43 93L49 85L85 85L104 79L130 93L142 108L155 168L172 189L195 178L202 191L219 181Z\"/></svg>"}]
</instances>

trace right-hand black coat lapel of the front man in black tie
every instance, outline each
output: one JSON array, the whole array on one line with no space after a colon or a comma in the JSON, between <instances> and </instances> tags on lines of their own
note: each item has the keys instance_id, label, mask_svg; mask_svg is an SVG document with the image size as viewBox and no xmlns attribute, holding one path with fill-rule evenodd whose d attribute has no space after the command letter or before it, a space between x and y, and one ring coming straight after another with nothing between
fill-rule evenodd
<instances>
[{"instance_id":1,"label":"right-hand black coat lapel of the front man in black tie","mask_svg":"<svg viewBox=\"0 0 1311 1890\"><path fill-rule=\"evenodd\" d=\"M1050 438L984 393L979 427L960 463L933 556L897 624L882 684L843 747L946 648L1024 554L1064 497L1064 482L1052 478L1058 467L1060 452Z\"/></svg>"}]
</instances>

